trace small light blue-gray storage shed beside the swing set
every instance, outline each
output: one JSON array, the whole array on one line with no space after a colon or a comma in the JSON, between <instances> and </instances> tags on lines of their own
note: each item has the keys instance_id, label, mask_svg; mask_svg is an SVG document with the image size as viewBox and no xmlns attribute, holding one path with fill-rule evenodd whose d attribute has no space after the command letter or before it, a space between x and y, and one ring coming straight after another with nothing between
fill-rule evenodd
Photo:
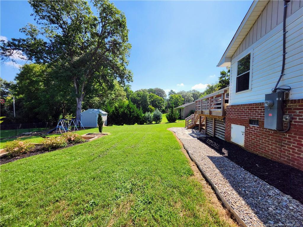
<instances>
[{"instance_id":1,"label":"small light blue-gray storage shed beside the swing set","mask_svg":"<svg viewBox=\"0 0 303 227\"><path fill-rule=\"evenodd\" d=\"M81 123L83 127L96 128L98 127L98 114L102 114L103 125L107 125L107 113L100 109L88 109L81 113Z\"/></svg>"}]
</instances>

